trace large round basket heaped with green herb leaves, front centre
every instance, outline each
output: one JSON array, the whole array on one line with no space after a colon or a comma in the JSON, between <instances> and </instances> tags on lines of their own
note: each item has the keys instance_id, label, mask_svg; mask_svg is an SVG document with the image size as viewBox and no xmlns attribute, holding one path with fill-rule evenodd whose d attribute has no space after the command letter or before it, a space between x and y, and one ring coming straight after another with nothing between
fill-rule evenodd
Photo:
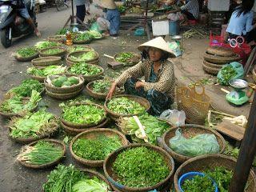
<instances>
[{"instance_id":1,"label":"large round basket heaped with green herb leaves, front centre","mask_svg":"<svg viewBox=\"0 0 256 192\"><path fill-rule=\"evenodd\" d=\"M174 159L150 144L122 146L109 154L103 170L117 191L162 191L174 174Z\"/></svg>"}]
</instances>

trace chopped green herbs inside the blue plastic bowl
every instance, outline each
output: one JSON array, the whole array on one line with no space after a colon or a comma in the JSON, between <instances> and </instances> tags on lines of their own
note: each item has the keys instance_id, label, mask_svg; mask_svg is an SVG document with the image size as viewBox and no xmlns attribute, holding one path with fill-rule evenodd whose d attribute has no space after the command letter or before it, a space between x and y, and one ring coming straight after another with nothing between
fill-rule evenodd
<instances>
[{"instance_id":1,"label":"chopped green herbs inside the blue plastic bowl","mask_svg":"<svg viewBox=\"0 0 256 192\"><path fill-rule=\"evenodd\" d=\"M196 175L191 180L186 179L182 185L182 190L184 192L214 192L215 185L212 180L207 176Z\"/></svg>"}]
</instances>

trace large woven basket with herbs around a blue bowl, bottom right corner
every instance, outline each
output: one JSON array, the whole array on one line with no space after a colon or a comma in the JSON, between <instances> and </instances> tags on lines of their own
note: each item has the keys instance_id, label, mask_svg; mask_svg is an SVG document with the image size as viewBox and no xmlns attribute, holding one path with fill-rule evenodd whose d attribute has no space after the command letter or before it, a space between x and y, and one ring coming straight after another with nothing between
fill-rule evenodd
<instances>
[{"instance_id":1,"label":"large woven basket with herbs around a blue bowl, bottom right corner","mask_svg":"<svg viewBox=\"0 0 256 192\"><path fill-rule=\"evenodd\" d=\"M230 182L233 177L236 164L237 161L235 158L230 158L222 154L205 154L195 158L190 158L186 162L183 162L182 165L178 167L178 170L176 170L174 174L174 187L178 192L182 192L178 187L178 180L182 175L188 172L200 172L214 179L214 182L217 183L218 191L229 191ZM192 186L190 191L206 191L198 190L197 187L198 185ZM250 170L244 191L255 190L256 177L254 170Z\"/></svg>"}]
</instances>

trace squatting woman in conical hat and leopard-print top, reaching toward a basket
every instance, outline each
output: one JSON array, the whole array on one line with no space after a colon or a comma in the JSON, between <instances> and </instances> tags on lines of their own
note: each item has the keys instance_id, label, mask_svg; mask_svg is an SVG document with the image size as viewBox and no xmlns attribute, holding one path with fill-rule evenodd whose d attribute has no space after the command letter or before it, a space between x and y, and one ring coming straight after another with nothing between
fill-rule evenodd
<instances>
[{"instance_id":1,"label":"squatting woman in conical hat and leopard-print top, reaching toward a basket","mask_svg":"<svg viewBox=\"0 0 256 192\"><path fill-rule=\"evenodd\" d=\"M146 98L151 105L150 114L159 116L174 103L174 64L167 58L174 56L172 50L161 37L138 46L146 59L124 71L110 87L106 96L115 95L116 86L125 87L126 94ZM145 78L145 82L138 78Z\"/></svg>"}]
</instances>

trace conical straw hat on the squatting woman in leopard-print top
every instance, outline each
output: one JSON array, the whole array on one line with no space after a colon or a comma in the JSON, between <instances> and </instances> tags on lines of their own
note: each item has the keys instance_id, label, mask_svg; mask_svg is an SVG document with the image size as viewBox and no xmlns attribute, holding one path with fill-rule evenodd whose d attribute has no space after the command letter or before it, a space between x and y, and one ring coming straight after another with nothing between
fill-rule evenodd
<instances>
[{"instance_id":1,"label":"conical straw hat on the squatting woman in leopard-print top","mask_svg":"<svg viewBox=\"0 0 256 192\"><path fill-rule=\"evenodd\" d=\"M166 41L162 37L153 38L152 40L143 43L142 45L138 46L138 50L147 50L146 48L149 46L166 51L167 53L169 53L169 57L175 57L174 51L170 50L170 47L167 45Z\"/></svg>"}]
</instances>

